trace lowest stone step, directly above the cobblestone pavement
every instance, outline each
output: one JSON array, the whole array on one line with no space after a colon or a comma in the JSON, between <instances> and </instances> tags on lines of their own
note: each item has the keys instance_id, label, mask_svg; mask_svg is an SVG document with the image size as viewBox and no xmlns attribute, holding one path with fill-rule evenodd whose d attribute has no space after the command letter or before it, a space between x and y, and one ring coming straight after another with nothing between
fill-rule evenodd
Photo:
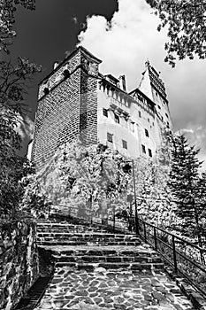
<instances>
[{"instance_id":1,"label":"lowest stone step, directly above the cobblestone pavement","mask_svg":"<svg viewBox=\"0 0 206 310\"><path fill-rule=\"evenodd\" d=\"M138 262L99 262L99 263L79 263L68 261L57 261L55 267L75 267L76 269L85 269L93 271L96 267L103 267L104 269L125 269L125 270L151 270L163 269L164 263L138 263Z\"/></svg>"}]
</instances>

